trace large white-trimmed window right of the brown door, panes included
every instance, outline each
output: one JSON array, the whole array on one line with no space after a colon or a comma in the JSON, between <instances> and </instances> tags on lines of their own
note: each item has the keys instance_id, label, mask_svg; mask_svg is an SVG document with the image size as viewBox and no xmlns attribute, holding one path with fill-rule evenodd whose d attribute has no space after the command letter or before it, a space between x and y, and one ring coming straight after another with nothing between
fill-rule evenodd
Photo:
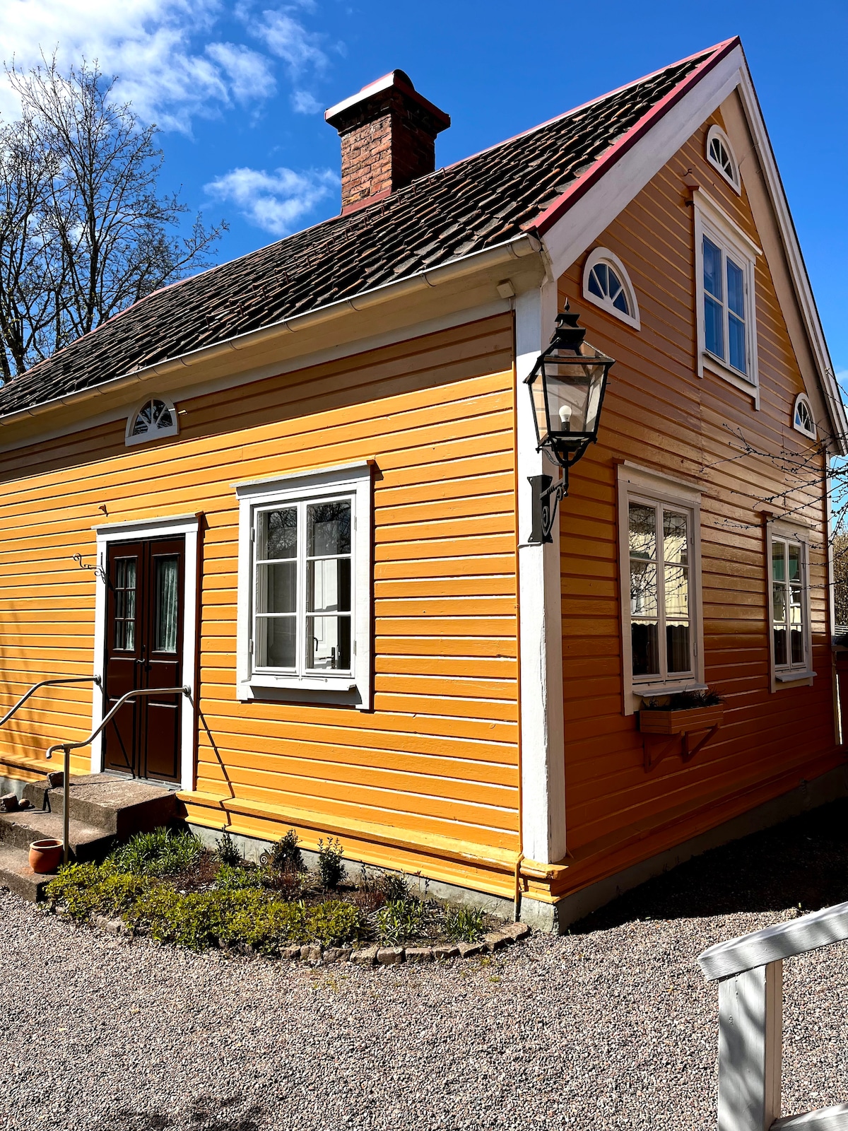
<instances>
[{"instance_id":1,"label":"large white-trimmed window right of the brown door, panes included","mask_svg":"<svg viewBox=\"0 0 848 1131\"><path fill-rule=\"evenodd\" d=\"M371 468L239 484L239 694L371 688Z\"/></svg>"}]
</instances>

